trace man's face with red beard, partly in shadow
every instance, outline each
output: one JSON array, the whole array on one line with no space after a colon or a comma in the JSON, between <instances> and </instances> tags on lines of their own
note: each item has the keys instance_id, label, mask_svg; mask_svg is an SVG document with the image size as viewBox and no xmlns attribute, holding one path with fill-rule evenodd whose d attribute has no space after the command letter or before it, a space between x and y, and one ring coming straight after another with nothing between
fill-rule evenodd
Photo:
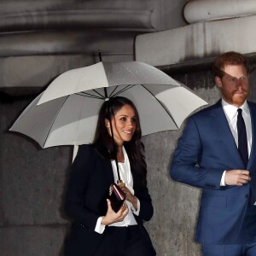
<instances>
[{"instance_id":1,"label":"man's face with red beard, partly in shadow","mask_svg":"<svg viewBox=\"0 0 256 256\"><path fill-rule=\"evenodd\" d=\"M223 69L224 77L215 77L215 83L221 90L225 102L237 108L246 101L249 80L247 70L243 65L227 65Z\"/></svg>"}]
</instances>

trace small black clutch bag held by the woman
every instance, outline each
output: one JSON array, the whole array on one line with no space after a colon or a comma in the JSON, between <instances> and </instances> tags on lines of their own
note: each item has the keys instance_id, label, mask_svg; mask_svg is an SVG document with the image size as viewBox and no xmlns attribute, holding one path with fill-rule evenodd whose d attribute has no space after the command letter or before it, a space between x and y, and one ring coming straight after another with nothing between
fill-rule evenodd
<instances>
[{"instance_id":1,"label":"small black clutch bag held by the woman","mask_svg":"<svg viewBox=\"0 0 256 256\"><path fill-rule=\"evenodd\" d=\"M111 207L114 212L118 212L120 207L123 206L125 201L125 193L116 183L112 183L109 186L109 197L108 199L111 202Z\"/></svg>"}]
</instances>

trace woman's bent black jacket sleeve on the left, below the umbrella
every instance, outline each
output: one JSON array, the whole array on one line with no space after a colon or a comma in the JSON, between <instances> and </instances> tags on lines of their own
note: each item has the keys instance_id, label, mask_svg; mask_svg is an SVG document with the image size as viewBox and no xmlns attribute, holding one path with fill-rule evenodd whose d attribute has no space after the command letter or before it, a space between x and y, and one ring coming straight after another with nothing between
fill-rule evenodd
<instances>
[{"instance_id":1,"label":"woman's bent black jacket sleeve on the left, below the umbrella","mask_svg":"<svg viewBox=\"0 0 256 256\"><path fill-rule=\"evenodd\" d=\"M67 216L89 230L94 230L100 215L84 206L84 193L90 182L90 173L94 167L93 148L90 145L79 146L79 152L70 170L64 211Z\"/></svg>"}]
</instances>

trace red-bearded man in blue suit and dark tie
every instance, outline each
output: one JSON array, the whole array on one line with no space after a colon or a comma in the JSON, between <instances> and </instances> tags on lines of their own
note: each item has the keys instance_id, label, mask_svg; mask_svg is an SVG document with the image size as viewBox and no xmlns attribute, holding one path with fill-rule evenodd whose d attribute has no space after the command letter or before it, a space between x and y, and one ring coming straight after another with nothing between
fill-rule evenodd
<instances>
[{"instance_id":1,"label":"red-bearded man in blue suit and dark tie","mask_svg":"<svg viewBox=\"0 0 256 256\"><path fill-rule=\"evenodd\" d=\"M247 101L248 62L227 52L213 62L213 72L222 98L189 117L170 174L202 189L195 240L204 256L255 256L256 104ZM243 138L236 126L241 119Z\"/></svg>"}]
</instances>

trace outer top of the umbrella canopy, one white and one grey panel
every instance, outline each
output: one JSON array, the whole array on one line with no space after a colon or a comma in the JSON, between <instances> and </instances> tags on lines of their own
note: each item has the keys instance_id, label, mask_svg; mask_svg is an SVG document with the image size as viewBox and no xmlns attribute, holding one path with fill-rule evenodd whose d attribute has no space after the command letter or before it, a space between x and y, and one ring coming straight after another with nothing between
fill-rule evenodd
<instances>
[{"instance_id":1,"label":"outer top of the umbrella canopy, one white and one grey panel","mask_svg":"<svg viewBox=\"0 0 256 256\"><path fill-rule=\"evenodd\" d=\"M44 91L38 104L80 91L125 84L172 84L180 86L160 69L139 61L99 62L62 73Z\"/></svg>"}]
</instances>

